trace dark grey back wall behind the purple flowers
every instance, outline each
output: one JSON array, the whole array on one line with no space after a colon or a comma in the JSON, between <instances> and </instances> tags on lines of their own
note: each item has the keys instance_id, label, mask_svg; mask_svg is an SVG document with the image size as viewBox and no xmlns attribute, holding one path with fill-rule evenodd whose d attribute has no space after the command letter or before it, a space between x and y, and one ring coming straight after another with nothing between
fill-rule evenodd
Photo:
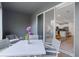
<instances>
[{"instance_id":1,"label":"dark grey back wall behind the purple flowers","mask_svg":"<svg viewBox=\"0 0 79 59\"><path fill-rule=\"evenodd\" d=\"M25 33L24 27L30 24L30 18L26 14L3 10L3 35L16 34L23 36Z\"/></svg>"}]
</instances>

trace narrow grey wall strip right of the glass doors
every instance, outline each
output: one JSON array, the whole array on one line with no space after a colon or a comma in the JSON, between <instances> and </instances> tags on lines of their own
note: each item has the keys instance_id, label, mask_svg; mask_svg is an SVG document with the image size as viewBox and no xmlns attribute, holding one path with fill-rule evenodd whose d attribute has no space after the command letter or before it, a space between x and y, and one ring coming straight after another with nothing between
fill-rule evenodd
<instances>
[{"instance_id":1,"label":"narrow grey wall strip right of the glass doors","mask_svg":"<svg viewBox=\"0 0 79 59\"><path fill-rule=\"evenodd\" d=\"M75 4L75 56L79 57L79 2Z\"/></svg>"}]
</instances>

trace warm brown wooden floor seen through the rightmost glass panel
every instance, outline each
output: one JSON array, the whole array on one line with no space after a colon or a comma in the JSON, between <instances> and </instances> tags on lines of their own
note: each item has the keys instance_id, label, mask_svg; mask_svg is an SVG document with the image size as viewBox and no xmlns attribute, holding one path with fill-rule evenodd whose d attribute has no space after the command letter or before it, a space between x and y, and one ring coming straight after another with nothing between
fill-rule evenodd
<instances>
[{"instance_id":1,"label":"warm brown wooden floor seen through the rightmost glass panel","mask_svg":"<svg viewBox=\"0 0 79 59\"><path fill-rule=\"evenodd\" d=\"M64 40L61 43L60 49L63 50L64 53L67 52L67 54L73 55L74 54L74 43L73 43L73 41L74 41L73 37L67 38L66 40ZM63 53L61 55L63 55Z\"/></svg>"}]
</instances>

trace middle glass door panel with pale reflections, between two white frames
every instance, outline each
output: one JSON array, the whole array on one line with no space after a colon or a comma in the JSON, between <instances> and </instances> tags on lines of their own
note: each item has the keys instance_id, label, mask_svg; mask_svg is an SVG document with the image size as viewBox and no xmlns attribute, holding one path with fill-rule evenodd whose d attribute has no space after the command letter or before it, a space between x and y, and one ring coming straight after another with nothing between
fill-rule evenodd
<instances>
[{"instance_id":1,"label":"middle glass door panel with pale reflections, between two white frames","mask_svg":"<svg viewBox=\"0 0 79 59\"><path fill-rule=\"evenodd\" d=\"M54 10L45 13L45 42L52 43L54 35Z\"/></svg>"}]
</instances>

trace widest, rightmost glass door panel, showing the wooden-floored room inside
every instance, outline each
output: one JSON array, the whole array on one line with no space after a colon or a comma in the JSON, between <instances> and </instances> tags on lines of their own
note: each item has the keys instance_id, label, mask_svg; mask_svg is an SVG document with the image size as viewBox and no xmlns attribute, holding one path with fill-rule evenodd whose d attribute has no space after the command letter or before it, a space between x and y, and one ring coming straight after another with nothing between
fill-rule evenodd
<instances>
[{"instance_id":1,"label":"widest, rightmost glass door panel, showing the wooden-floored room inside","mask_svg":"<svg viewBox=\"0 0 79 59\"><path fill-rule=\"evenodd\" d=\"M64 3L55 9L56 39L61 41L61 51L74 55L74 3Z\"/></svg>"}]
</instances>

